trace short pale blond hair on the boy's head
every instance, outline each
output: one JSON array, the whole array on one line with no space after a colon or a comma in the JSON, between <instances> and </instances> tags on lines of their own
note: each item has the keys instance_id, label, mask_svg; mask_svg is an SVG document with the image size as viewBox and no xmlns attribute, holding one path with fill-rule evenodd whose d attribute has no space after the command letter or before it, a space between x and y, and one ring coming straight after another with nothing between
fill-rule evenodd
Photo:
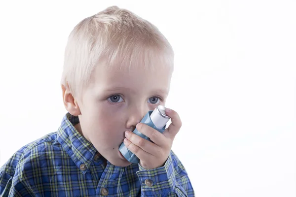
<instances>
[{"instance_id":1,"label":"short pale blond hair on the boy's head","mask_svg":"<svg viewBox=\"0 0 296 197\"><path fill-rule=\"evenodd\" d=\"M111 6L85 18L70 33L61 84L75 94L98 64L130 68L170 66L174 52L162 33L134 13Z\"/></svg>"}]
</instances>

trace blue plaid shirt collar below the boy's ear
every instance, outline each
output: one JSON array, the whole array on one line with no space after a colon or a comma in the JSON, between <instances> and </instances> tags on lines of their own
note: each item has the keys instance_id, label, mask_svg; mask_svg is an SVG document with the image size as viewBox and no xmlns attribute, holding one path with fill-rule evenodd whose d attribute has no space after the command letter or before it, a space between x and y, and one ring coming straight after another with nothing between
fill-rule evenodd
<instances>
[{"instance_id":1,"label":"blue plaid shirt collar below the boy's ear","mask_svg":"<svg viewBox=\"0 0 296 197\"><path fill-rule=\"evenodd\" d=\"M86 168L88 169L97 150L74 128L74 125L77 123L79 123L78 117L73 116L68 112L64 116L58 130L57 140L76 166L85 173L87 170L83 167L81 168L81 165L86 165Z\"/></svg>"}]
</instances>

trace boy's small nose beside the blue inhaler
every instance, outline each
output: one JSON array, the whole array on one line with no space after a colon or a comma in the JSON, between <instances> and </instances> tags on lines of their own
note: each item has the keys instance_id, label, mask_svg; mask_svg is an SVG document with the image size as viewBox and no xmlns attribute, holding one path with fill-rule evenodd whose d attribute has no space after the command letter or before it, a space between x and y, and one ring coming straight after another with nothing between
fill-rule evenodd
<instances>
[{"instance_id":1,"label":"boy's small nose beside the blue inhaler","mask_svg":"<svg viewBox=\"0 0 296 197\"><path fill-rule=\"evenodd\" d=\"M147 107L134 106L128 112L128 118L126 121L126 129L134 131L136 125L141 122L142 118L148 112Z\"/></svg>"}]
</instances>

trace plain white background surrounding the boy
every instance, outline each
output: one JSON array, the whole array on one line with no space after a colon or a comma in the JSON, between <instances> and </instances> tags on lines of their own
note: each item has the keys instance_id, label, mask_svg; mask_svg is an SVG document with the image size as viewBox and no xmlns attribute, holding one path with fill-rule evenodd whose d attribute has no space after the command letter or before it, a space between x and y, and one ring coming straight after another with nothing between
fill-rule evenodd
<instances>
[{"instance_id":1,"label":"plain white background surrounding the boy","mask_svg":"<svg viewBox=\"0 0 296 197\"><path fill-rule=\"evenodd\" d=\"M193 3L194 2L194 3ZM0 165L56 131L69 33L110 5L172 44L173 150L197 197L296 197L296 1L0 1Z\"/></svg>"}]
</instances>

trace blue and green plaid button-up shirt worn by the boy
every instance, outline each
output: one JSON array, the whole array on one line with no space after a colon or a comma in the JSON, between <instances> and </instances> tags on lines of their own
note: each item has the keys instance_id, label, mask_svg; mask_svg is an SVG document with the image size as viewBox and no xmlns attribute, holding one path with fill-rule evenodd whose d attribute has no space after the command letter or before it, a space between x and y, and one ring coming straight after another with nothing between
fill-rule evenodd
<instances>
[{"instance_id":1,"label":"blue and green plaid button-up shirt worn by the boy","mask_svg":"<svg viewBox=\"0 0 296 197\"><path fill-rule=\"evenodd\" d=\"M22 147L0 168L2 197L193 197L184 166L171 151L165 165L114 166L74 128L67 113L57 132Z\"/></svg>"}]
</instances>

